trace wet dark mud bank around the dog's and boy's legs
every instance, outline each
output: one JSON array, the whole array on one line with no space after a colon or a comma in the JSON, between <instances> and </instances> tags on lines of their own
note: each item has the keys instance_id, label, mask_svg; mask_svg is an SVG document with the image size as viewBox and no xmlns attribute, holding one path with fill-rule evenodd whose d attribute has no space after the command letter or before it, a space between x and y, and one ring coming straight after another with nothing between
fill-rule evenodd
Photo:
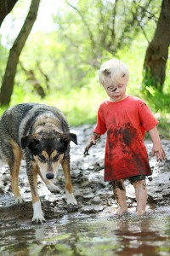
<instances>
[{"instance_id":1,"label":"wet dark mud bank around the dog's and boy's legs","mask_svg":"<svg viewBox=\"0 0 170 256\"><path fill-rule=\"evenodd\" d=\"M42 211L45 213L47 222L59 220L71 212L77 214L92 215L99 212L111 212L114 214L116 201L112 193L111 183L104 182L104 156L105 136L89 150L88 156L84 156L84 148L88 143L93 126L84 125L71 129L77 133L78 146L71 143L71 177L74 194L77 198L77 206L66 206L65 203L65 179L59 168L57 185L59 194L52 194L38 179L38 194L42 201ZM170 141L161 139L167 159L157 163L156 159L150 158L152 176L146 180L148 189L147 212L156 207L169 207L170 203ZM149 156L152 143L150 139L145 141ZM133 186L126 181L127 203L129 212L135 212L136 200ZM18 226L31 223L32 206L31 191L26 177L26 163L22 160L20 167L20 192L26 199L23 204L15 204L10 185L8 166L0 162L0 227Z\"/></svg>"}]
</instances>

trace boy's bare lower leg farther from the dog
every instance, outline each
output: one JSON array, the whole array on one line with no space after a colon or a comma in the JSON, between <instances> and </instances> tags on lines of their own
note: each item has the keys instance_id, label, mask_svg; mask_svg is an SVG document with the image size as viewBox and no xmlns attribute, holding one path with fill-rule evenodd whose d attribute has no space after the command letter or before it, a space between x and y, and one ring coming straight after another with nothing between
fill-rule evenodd
<instances>
[{"instance_id":1,"label":"boy's bare lower leg farther from the dog","mask_svg":"<svg viewBox=\"0 0 170 256\"><path fill-rule=\"evenodd\" d=\"M146 201L147 201L147 189L145 180L140 180L133 183L137 201L136 214L143 215L145 212Z\"/></svg>"}]
</instances>

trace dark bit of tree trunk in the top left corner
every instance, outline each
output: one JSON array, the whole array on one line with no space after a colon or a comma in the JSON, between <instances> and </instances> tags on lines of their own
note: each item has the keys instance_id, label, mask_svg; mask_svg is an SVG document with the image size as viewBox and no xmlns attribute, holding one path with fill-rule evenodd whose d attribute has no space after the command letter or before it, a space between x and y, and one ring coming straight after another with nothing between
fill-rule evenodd
<instances>
[{"instance_id":1,"label":"dark bit of tree trunk in the top left corner","mask_svg":"<svg viewBox=\"0 0 170 256\"><path fill-rule=\"evenodd\" d=\"M18 0L0 0L0 26L4 18L11 12Z\"/></svg>"}]
</instances>

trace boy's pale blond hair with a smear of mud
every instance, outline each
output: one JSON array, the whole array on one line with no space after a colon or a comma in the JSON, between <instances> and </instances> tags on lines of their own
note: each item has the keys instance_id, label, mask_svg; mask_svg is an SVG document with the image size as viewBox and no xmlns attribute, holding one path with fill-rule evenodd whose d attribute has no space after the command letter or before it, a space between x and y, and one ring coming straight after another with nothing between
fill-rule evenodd
<instances>
[{"instance_id":1,"label":"boy's pale blond hair with a smear of mud","mask_svg":"<svg viewBox=\"0 0 170 256\"><path fill-rule=\"evenodd\" d=\"M120 79L129 79L129 71L125 64L116 59L105 61L99 69L100 84L116 84Z\"/></svg>"}]
</instances>

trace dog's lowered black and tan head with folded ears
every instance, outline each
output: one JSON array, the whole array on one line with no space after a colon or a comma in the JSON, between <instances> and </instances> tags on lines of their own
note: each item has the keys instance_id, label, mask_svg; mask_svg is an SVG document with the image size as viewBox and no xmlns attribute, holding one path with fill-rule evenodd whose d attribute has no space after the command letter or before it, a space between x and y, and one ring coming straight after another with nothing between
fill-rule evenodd
<instances>
[{"instance_id":1,"label":"dog's lowered black and tan head with folded ears","mask_svg":"<svg viewBox=\"0 0 170 256\"><path fill-rule=\"evenodd\" d=\"M71 141L77 144L76 134L40 132L22 137L21 148L29 151L31 160L37 163L44 179L53 179Z\"/></svg>"}]
</instances>

